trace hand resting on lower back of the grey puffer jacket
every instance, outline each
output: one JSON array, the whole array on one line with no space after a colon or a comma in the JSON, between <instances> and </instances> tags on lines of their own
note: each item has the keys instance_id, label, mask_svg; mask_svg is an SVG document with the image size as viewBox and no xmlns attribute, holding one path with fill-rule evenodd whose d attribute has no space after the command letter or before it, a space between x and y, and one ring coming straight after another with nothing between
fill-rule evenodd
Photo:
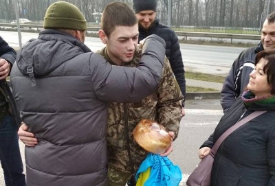
<instances>
[{"instance_id":1,"label":"hand resting on lower back of the grey puffer jacket","mask_svg":"<svg viewBox=\"0 0 275 186\"><path fill-rule=\"evenodd\" d=\"M28 132L28 126L25 123L21 123L21 126L18 130L18 136L19 139L26 145L29 147L34 147L37 145L38 140L34 137L34 134L32 134L31 132Z\"/></svg>"}]
</instances>

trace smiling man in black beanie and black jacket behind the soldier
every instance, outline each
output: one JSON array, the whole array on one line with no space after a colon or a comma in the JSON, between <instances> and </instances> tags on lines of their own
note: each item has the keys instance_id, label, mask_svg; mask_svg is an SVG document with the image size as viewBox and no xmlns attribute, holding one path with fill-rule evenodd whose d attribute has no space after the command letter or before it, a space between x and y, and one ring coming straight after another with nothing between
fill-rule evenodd
<instances>
[{"instance_id":1,"label":"smiling man in black beanie and black jacket behind the soldier","mask_svg":"<svg viewBox=\"0 0 275 186\"><path fill-rule=\"evenodd\" d=\"M186 80L184 76L184 63L181 57L181 51L179 47L179 39L174 30L170 27L159 23L156 19L157 15L157 0L133 0L133 10L137 16L139 22L139 41L150 36L151 34L157 34L163 38L166 43L166 57L170 61L173 73L179 84L182 95L186 94ZM183 107L184 107L184 102ZM184 108L181 112L185 115Z\"/></svg>"}]
</instances>

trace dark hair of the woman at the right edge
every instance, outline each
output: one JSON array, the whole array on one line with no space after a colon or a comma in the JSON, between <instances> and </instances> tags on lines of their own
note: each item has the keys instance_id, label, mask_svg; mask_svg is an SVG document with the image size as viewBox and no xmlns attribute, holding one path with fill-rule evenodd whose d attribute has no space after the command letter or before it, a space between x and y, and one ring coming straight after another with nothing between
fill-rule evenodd
<instances>
[{"instance_id":1,"label":"dark hair of the woman at the right edge","mask_svg":"<svg viewBox=\"0 0 275 186\"><path fill-rule=\"evenodd\" d=\"M272 87L271 94L275 94L275 49L260 51L256 55L255 65L261 58L267 60L263 71L267 75L267 83Z\"/></svg>"}]
</instances>

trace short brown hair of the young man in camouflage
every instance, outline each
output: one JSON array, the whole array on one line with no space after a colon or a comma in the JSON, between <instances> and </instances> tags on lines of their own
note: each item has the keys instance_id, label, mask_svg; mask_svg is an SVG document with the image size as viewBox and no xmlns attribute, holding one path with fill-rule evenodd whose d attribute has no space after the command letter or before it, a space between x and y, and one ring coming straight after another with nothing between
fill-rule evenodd
<instances>
[{"instance_id":1,"label":"short brown hair of the young man in camouflage","mask_svg":"<svg viewBox=\"0 0 275 186\"><path fill-rule=\"evenodd\" d=\"M115 30L117 26L131 27L137 24L135 12L126 3L113 2L104 8L100 28L107 37Z\"/></svg>"}]
</instances>

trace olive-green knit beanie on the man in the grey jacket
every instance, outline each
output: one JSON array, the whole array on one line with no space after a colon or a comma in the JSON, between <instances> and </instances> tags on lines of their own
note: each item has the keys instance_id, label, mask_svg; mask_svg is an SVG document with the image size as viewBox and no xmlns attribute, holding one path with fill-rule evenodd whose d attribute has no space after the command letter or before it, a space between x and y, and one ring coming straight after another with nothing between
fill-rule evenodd
<instances>
[{"instance_id":1,"label":"olive-green knit beanie on the man in the grey jacket","mask_svg":"<svg viewBox=\"0 0 275 186\"><path fill-rule=\"evenodd\" d=\"M47 8L44 28L87 30L87 23L83 13L75 5L57 1Z\"/></svg>"}]
</instances>

